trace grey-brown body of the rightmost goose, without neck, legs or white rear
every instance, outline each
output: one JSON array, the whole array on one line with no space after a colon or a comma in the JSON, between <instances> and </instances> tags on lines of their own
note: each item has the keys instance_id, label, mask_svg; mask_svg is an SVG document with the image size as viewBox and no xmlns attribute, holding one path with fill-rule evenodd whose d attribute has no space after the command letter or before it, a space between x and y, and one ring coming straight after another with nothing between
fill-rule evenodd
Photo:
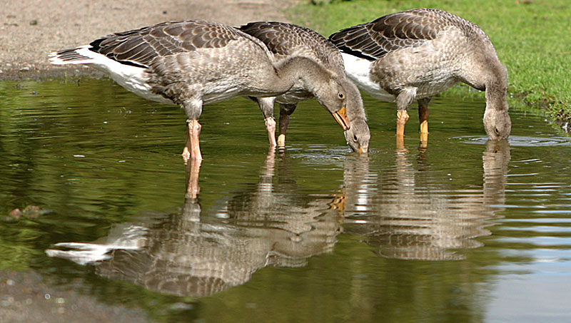
<instances>
[{"instance_id":1,"label":"grey-brown body of the rightmost goose, without neck, legs or white rear","mask_svg":"<svg viewBox=\"0 0 571 323\"><path fill-rule=\"evenodd\" d=\"M413 98L428 98L459 81L485 90L485 81L501 66L490 39L478 26L438 9L388 14L329 39L344 53L345 63L370 62L365 63L370 65L365 78L388 95L370 94L385 101L411 87Z\"/></svg>"}]
</instances>

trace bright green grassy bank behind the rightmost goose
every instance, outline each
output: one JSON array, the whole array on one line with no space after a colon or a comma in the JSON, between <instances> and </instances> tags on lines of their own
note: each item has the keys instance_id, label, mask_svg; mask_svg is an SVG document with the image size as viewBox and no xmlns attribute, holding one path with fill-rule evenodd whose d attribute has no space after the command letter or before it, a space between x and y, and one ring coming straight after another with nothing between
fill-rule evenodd
<instances>
[{"instance_id":1,"label":"bright green grassy bank behind the rightmost goose","mask_svg":"<svg viewBox=\"0 0 571 323\"><path fill-rule=\"evenodd\" d=\"M569 0L353 0L311 5L288 18L328 36L339 29L411 8L438 8L472 21L494 44L510 77L508 91L554 120L571 118L571 2ZM468 91L455 87L447 93ZM477 93L475 95L482 95Z\"/></svg>"}]
</instances>

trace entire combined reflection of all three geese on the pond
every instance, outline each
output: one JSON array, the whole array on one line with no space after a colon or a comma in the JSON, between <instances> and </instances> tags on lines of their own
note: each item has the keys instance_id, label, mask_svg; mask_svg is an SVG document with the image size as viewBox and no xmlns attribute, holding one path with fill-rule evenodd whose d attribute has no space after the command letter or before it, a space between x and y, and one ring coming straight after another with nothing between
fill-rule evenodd
<instances>
[{"instance_id":1,"label":"entire combined reflection of all three geese on the pond","mask_svg":"<svg viewBox=\"0 0 571 323\"><path fill-rule=\"evenodd\" d=\"M309 257L333 250L344 212L345 232L365 237L380 255L458 260L462 255L450 250L479 247L473 238L490 234L485 226L505 200L510 146L488 142L483 188L460 195L431 183L425 153L416 160L418 170L408 154L396 153L393 174L382 175L369 170L368 156L350 155L343 193L333 202L303 193L288 173L290 160L271 150L258 183L220 201L216 218L201 217L200 164L189 164L181 212L158 223L115 225L101 241L59 243L46 252L93 264L102 277L202 297L244 284L268 265L301 267Z\"/></svg>"}]
</instances>

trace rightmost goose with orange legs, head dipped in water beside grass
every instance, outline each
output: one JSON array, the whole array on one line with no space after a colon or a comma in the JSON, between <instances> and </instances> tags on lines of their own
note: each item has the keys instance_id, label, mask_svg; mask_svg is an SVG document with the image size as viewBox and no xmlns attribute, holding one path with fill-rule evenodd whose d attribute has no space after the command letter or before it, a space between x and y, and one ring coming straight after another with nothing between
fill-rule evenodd
<instances>
[{"instance_id":1,"label":"rightmost goose with orange legs, head dipped in water beside grass","mask_svg":"<svg viewBox=\"0 0 571 323\"><path fill-rule=\"evenodd\" d=\"M329 40L363 91L397 103L401 142L410 103L418 101L420 140L426 143L430 98L458 82L485 91L488 138L510 135L507 70L484 31L470 21L438 9L410 9L343 29Z\"/></svg>"}]
</instances>

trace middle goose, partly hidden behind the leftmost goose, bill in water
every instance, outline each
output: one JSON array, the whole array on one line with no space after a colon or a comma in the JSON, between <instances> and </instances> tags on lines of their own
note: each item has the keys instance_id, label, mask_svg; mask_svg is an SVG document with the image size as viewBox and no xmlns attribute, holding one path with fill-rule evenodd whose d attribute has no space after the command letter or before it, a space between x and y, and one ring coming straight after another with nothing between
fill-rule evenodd
<instances>
[{"instance_id":1,"label":"middle goose, partly hidden behind the leftmost goose, bill in water","mask_svg":"<svg viewBox=\"0 0 571 323\"><path fill-rule=\"evenodd\" d=\"M345 131L345 140L354 151L367 153L370 132L363 108L363 100L355 84L345 78L343 57L330 41L306 27L276 21L255 21L240 26L239 29L263 41L277 61L289 59L292 56L303 56L313 59L337 76L347 94L346 111L350 128ZM300 82L296 82L289 91L280 96L253 98L254 101L258 102L266 119L270 145L276 145L276 121L273 119L274 102L280 103L278 145L283 147L290 115L295 111L300 101L311 98L314 98L313 93L307 91L303 87L303 83Z\"/></svg>"}]
</instances>

